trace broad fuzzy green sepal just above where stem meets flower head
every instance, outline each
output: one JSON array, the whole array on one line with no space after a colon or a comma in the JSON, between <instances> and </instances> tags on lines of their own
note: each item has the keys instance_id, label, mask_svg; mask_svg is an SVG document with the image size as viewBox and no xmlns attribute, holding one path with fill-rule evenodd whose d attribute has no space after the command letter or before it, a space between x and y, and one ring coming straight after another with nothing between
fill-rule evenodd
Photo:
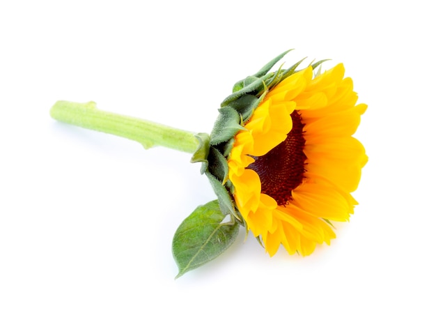
<instances>
[{"instance_id":1,"label":"broad fuzzy green sepal just above where stem meets flower head","mask_svg":"<svg viewBox=\"0 0 436 313\"><path fill-rule=\"evenodd\" d=\"M221 107L219 116L210 132L210 144L221 144L233 138L237 132L244 128L240 125L241 116L233 107Z\"/></svg>"}]
</instances>

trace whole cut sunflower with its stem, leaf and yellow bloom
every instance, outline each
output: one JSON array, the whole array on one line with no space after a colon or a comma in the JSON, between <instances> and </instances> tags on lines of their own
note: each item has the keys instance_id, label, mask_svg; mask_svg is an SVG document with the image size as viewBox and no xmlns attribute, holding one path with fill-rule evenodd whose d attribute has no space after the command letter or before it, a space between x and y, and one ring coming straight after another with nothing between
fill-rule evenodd
<instances>
[{"instance_id":1,"label":"whole cut sunflower with its stem, leaf and yellow bloom","mask_svg":"<svg viewBox=\"0 0 436 313\"><path fill-rule=\"evenodd\" d=\"M183 275L224 252L240 225L272 256L280 245L309 255L335 238L331 221L347 221L368 158L352 135L366 105L338 64L322 61L270 70L290 50L233 86L210 134L100 111L95 102L58 101L54 119L143 144L193 153L217 195L178 227L173 256ZM227 216L230 215L230 219Z\"/></svg>"}]
</instances>

